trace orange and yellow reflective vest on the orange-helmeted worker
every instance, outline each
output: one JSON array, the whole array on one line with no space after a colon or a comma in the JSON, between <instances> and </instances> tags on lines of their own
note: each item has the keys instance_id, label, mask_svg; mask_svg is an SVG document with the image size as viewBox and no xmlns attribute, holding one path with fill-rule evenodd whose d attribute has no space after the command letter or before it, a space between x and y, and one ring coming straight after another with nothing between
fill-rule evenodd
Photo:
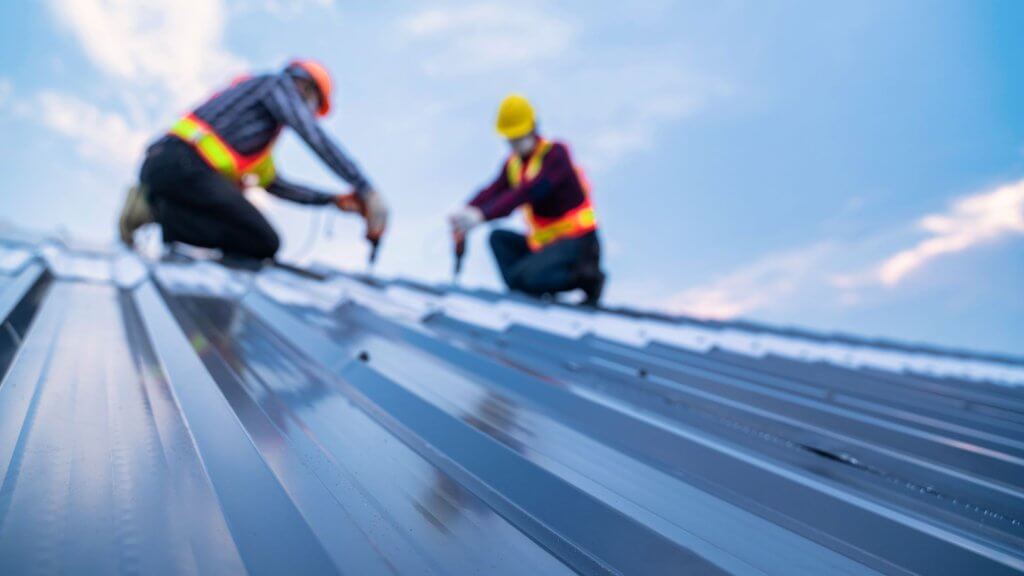
<instances>
[{"instance_id":1,"label":"orange and yellow reflective vest on the orange-helmeted worker","mask_svg":"<svg viewBox=\"0 0 1024 576\"><path fill-rule=\"evenodd\" d=\"M175 122L170 133L190 143L211 168L240 186L243 186L243 179L248 179L246 176L250 174L256 176L260 187L269 186L276 176L273 159L270 157L276 135L263 150L245 155L231 148L195 114Z\"/></svg>"}]
</instances>

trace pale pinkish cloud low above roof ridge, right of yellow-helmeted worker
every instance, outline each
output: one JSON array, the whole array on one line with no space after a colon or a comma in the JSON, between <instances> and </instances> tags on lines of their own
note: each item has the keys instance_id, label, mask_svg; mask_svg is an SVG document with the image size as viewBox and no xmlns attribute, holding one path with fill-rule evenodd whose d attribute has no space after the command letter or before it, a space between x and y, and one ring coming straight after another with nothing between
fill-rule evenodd
<instances>
[{"instance_id":1,"label":"pale pinkish cloud low above roof ridge, right of yellow-helmeted worker","mask_svg":"<svg viewBox=\"0 0 1024 576\"><path fill-rule=\"evenodd\" d=\"M834 249L830 244L817 244L765 256L709 284L670 296L662 307L677 314L726 320L775 305L812 282Z\"/></svg>"}]
</instances>

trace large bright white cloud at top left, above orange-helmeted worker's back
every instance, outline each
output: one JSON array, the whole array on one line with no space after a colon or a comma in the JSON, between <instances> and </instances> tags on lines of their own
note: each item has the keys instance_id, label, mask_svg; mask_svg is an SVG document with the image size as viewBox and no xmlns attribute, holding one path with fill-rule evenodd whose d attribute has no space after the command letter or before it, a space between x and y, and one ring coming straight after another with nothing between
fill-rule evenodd
<instances>
[{"instance_id":1,"label":"large bright white cloud at top left, above orange-helmeted worker's back","mask_svg":"<svg viewBox=\"0 0 1024 576\"><path fill-rule=\"evenodd\" d=\"M209 93L244 63L223 47L221 0L49 0L79 42L117 107L81 94L43 91L18 100L33 117L76 143L84 158L126 167L171 115Z\"/></svg>"}]
</instances>

